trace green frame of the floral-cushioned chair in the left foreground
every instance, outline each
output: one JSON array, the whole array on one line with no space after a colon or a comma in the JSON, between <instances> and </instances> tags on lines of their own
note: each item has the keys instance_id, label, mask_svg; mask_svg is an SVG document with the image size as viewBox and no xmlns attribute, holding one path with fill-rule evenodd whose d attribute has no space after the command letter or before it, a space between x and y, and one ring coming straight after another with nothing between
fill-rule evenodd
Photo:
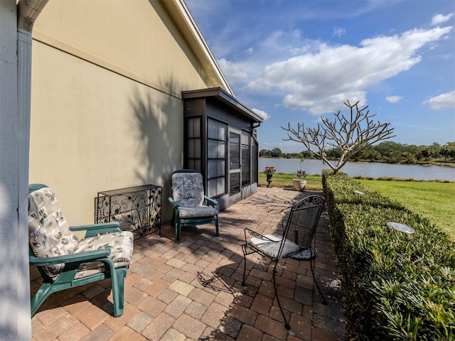
<instances>
[{"instance_id":1,"label":"green frame of the floral-cushioned chair in the left foreground","mask_svg":"<svg viewBox=\"0 0 455 341\"><path fill-rule=\"evenodd\" d=\"M28 193L32 193L41 188L48 187L41 183L34 183L28 186ZM85 237L95 237L97 234L106 234L111 232L120 232L118 222L107 222L102 224L90 224L70 227L73 232L86 231ZM38 271L43 278L43 283L36 292L35 296L31 299L31 315L35 315L38 308L45 301L48 296L58 291L74 288L76 286L83 286L88 283L103 281L106 278L111 278L112 298L114 301L114 317L118 318L123 314L124 307L124 278L127 276L128 266L121 268L114 268L114 262L109 258L110 249L100 249L94 251L85 251L77 254L66 254L63 256L53 256L40 258L33 254L31 247L28 247L29 262L31 266L37 266ZM80 264L89 261L102 261L105 264L105 272L92 274L82 278L75 278L77 269ZM41 266L49 266L53 264L65 264L62 273L53 280Z\"/></svg>"}]
</instances>

